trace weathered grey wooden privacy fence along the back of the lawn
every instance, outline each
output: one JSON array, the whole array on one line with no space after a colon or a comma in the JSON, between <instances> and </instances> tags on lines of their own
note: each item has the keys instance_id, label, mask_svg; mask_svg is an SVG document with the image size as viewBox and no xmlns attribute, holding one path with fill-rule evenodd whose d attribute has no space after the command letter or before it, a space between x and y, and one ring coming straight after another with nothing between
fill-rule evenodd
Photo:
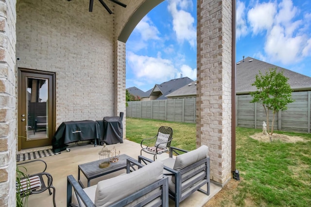
<instances>
[{"instance_id":1,"label":"weathered grey wooden privacy fence along the back of the lawn","mask_svg":"<svg viewBox=\"0 0 311 207\"><path fill-rule=\"evenodd\" d=\"M310 133L311 91L293 92L293 103L275 117L274 129ZM196 98L128 102L126 117L195 123ZM266 121L259 103L250 103L251 95L236 96L236 124L241 127L262 128ZM270 127L272 112L269 114Z\"/></svg>"}]
</instances>

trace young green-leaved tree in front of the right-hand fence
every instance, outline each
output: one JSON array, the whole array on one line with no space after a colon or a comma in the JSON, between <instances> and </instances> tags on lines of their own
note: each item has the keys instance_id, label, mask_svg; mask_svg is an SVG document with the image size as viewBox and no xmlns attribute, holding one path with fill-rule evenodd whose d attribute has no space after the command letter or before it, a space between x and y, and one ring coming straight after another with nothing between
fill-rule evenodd
<instances>
[{"instance_id":1,"label":"young green-leaved tree in front of the right-hand fence","mask_svg":"<svg viewBox=\"0 0 311 207\"><path fill-rule=\"evenodd\" d=\"M266 118L267 118L267 129L269 132L269 112L273 111L273 118L271 124L271 135L273 135L273 127L275 121L275 115L278 111L287 109L287 104L294 102L292 99L291 86L287 83L289 78L285 77L282 72L277 72L276 68L269 69L263 75L260 71L256 75L256 80L252 86L257 87L257 91L251 92L253 100L251 103L262 104Z\"/></svg>"}]
</instances>

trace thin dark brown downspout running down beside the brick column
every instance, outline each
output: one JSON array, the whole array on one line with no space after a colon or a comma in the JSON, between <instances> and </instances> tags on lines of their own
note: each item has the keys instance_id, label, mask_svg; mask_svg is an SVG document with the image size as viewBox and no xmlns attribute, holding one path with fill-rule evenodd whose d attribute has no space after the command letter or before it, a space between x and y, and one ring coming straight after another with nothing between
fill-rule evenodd
<instances>
[{"instance_id":1,"label":"thin dark brown downspout running down beside the brick column","mask_svg":"<svg viewBox=\"0 0 311 207\"><path fill-rule=\"evenodd\" d=\"M233 178L236 180L240 180L239 171L236 169L236 111L235 111L235 98L236 98L236 92L235 92L235 74L236 74L236 0L232 0L232 78L231 78L231 84L232 84L232 90L231 90L231 171L233 174Z\"/></svg>"}]
</instances>

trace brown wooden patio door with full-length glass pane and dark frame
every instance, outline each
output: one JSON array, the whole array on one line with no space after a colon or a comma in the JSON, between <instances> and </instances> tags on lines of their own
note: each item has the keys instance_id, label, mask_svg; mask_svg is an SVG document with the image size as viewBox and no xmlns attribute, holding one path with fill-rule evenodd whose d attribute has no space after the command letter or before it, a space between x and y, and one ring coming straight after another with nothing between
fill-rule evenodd
<instances>
[{"instance_id":1,"label":"brown wooden patio door with full-length glass pane and dark frame","mask_svg":"<svg viewBox=\"0 0 311 207\"><path fill-rule=\"evenodd\" d=\"M52 145L55 74L18 69L18 151Z\"/></svg>"}]
</instances>

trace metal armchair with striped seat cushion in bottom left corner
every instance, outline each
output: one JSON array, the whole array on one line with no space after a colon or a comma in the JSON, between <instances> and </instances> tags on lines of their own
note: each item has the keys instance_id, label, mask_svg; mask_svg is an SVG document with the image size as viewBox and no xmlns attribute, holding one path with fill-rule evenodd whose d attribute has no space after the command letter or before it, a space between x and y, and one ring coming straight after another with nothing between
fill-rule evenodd
<instances>
[{"instance_id":1,"label":"metal armchair with striped seat cushion in bottom left corner","mask_svg":"<svg viewBox=\"0 0 311 207\"><path fill-rule=\"evenodd\" d=\"M23 171L23 168L27 170L27 163L30 162L42 162L44 166L44 170L39 173L29 174L28 178L20 179L19 183L21 186L18 186L17 190L19 190L21 196L27 195L26 191L29 191L29 194L38 194L49 190L49 194L52 195L53 190L53 206L56 207L55 204L55 188L52 186L53 178L50 173L46 173L47 163L41 159L34 159L27 162L17 164L17 167L20 171ZM20 167L23 166L23 167ZM26 172L27 173L27 172Z\"/></svg>"}]
</instances>

